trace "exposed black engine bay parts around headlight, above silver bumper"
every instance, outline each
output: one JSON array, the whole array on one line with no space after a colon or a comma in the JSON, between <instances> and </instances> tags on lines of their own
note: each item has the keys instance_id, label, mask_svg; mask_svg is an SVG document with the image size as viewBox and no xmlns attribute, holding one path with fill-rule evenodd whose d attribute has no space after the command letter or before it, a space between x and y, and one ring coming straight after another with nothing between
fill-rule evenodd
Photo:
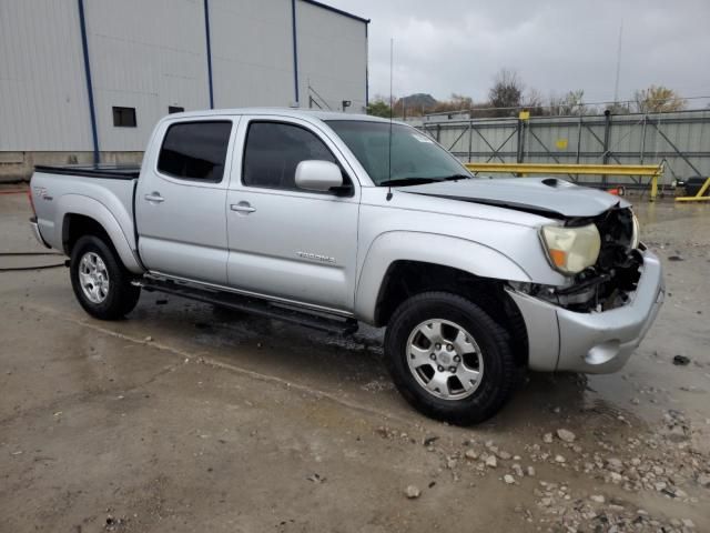
<instances>
[{"instance_id":1,"label":"exposed black engine bay parts around headlight, above silver bumper","mask_svg":"<svg viewBox=\"0 0 710 533\"><path fill-rule=\"evenodd\" d=\"M633 248L638 231L633 213L630 208L612 208L597 217L568 219L565 225L590 223L601 238L597 262L576 274L568 286L529 284L523 289L526 293L577 312L608 311L628 302L643 264L642 244Z\"/></svg>"}]
</instances>

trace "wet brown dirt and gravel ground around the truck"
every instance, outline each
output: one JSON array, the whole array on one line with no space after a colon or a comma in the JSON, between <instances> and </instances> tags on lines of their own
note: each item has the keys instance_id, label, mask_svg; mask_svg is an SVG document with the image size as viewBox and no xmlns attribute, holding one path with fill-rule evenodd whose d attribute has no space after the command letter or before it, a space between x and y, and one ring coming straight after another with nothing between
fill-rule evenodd
<instances>
[{"instance_id":1,"label":"wet brown dirt and gravel ground around the truck","mask_svg":"<svg viewBox=\"0 0 710 533\"><path fill-rule=\"evenodd\" d=\"M0 531L710 531L710 205L638 212L668 299L629 364L470 429L403 402L381 331L155 294L99 322L65 269L1 272ZM0 251L40 250L28 217L0 195Z\"/></svg>"}]
</instances>

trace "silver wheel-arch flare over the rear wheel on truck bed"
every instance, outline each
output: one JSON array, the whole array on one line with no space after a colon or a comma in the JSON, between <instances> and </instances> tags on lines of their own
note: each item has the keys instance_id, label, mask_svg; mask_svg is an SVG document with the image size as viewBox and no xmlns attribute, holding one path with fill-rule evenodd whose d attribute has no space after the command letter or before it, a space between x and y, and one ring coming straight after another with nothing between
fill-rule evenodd
<instances>
[{"instance_id":1,"label":"silver wheel-arch flare over the rear wheel on truck bed","mask_svg":"<svg viewBox=\"0 0 710 533\"><path fill-rule=\"evenodd\" d=\"M64 221L68 214L82 214L95 220L105 230L123 265L133 273L142 273L143 266L131 250L131 239L126 235L113 213L101 202L81 194L64 194L58 200L57 218L61 224L55 229L54 241L62 243Z\"/></svg>"}]
</instances>

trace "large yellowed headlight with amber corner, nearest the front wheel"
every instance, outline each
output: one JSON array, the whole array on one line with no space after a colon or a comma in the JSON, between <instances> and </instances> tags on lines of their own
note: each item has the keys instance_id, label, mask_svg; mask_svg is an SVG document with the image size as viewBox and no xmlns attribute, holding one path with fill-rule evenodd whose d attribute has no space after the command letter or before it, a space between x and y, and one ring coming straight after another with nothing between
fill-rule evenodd
<instances>
[{"instance_id":1,"label":"large yellowed headlight with amber corner, nearest the front wheel","mask_svg":"<svg viewBox=\"0 0 710 533\"><path fill-rule=\"evenodd\" d=\"M550 263L560 272L576 274L597 262L601 239L595 224L544 225L541 234Z\"/></svg>"}]
</instances>

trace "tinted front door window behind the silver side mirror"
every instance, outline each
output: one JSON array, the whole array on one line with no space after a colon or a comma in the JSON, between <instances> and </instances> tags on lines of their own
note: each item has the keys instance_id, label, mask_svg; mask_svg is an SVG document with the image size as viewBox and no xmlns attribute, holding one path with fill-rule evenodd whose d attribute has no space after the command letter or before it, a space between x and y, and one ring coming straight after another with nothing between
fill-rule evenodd
<instances>
[{"instance_id":1,"label":"tinted front door window behind the silver side mirror","mask_svg":"<svg viewBox=\"0 0 710 533\"><path fill-rule=\"evenodd\" d=\"M244 148L244 184L296 189L296 167L306 160L335 158L315 134L292 124L252 122Z\"/></svg>"}]
</instances>

